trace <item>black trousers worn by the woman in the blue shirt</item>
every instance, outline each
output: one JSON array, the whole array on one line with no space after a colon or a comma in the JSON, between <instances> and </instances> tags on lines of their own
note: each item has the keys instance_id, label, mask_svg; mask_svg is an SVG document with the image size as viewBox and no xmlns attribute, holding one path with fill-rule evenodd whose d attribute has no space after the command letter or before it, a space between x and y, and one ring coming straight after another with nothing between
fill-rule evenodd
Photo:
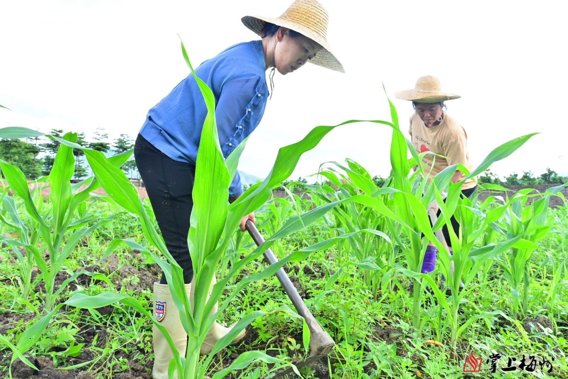
<instances>
[{"instance_id":1,"label":"black trousers worn by the woman in the blue shirt","mask_svg":"<svg viewBox=\"0 0 568 379\"><path fill-rule=\"evenodd\" d=\"M183 269L185 283L191 283L193 265L187 234L193 209L195 165L171 159L140 134L134 144L134 159L166 247ZM164 273L160 283L167 284Z\"/></svg>"}]
</instances>

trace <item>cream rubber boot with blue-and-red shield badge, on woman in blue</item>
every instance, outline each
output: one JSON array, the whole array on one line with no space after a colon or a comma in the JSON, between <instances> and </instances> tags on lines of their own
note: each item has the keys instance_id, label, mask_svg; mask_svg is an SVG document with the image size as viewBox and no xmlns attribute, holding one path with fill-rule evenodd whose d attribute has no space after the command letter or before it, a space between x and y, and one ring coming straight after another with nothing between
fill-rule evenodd
<instances>
[{"instance_id":1,"label":"cream rubber boot with blue-and-red shield badge, on woman in blue","mask_svg":"<svg viewBox=\"0 0 568 379\"><path fill-rule=\"evenodd\" d=\"M186 284L185 291L188 296L190 290L191 284ZM160 282L154 282L154 317L166 328L168 334L172 337L179 355L185 357L187 334L179 320L179 311L176 305L174 305L168 285L160 284ZM152 341L154 345L152 378L168 379L168 366L173 358L173 354L164 335L155 325L152 326ZM174 378L177 378L177 371L174 372Z\"/></svg>"}]
</instances>

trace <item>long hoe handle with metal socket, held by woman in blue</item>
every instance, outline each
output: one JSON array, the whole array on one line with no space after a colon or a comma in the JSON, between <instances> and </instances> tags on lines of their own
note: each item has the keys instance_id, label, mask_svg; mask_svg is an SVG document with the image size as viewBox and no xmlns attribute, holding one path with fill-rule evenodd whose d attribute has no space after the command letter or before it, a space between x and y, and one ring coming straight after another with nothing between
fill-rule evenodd
<instances>
[{"instance_id":1,"label":"long hoe handle with metal socket, held by woman in blue","mask_svg":"<svg viewBox=\"0 0 568 379\"><path fill-rule=\"evenodd\" d=\"M254 226L251 220L247 220L245 228L249 232L254 243L256 243L258 246L264 243L264 238L262 238L262 235L260 234L256 226ZM273 252L270 251L270 249L267 249L264 252L264 259L269 264L273 264L278 261ZM306 307L306 304L304 304L304 301L298 294L298 291L296 291L296 288L290 281L290 278L287 276L284 269L279 269L276 273L276 277L278 278L280 284L282 284L282 287L286 291L286 294L294 304L296 311L298 311L298 314L300 314L300 316L302 316L306 320L306 324L308 328L310 328L311 355L323 356L328 354L333 348L335 341L333 341L329 334L327 334L327 332L325 332L321 328L320 324L314 318L314 315L312 315L308 307Z\"/></svg>"}]
</instances>

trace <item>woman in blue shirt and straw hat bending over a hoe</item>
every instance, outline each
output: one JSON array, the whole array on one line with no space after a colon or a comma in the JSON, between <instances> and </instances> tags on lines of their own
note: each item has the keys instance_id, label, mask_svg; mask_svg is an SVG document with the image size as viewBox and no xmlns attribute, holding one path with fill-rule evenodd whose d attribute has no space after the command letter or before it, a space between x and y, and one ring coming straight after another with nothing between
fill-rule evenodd
<instances>
[{"instance_id":1,"label":"woman in blue shirt and straw hat bending over a hoe","mask_svg":"<svg viewBox=\"0 0 568 379\"><path fill-rule=\"evenodd\" d=\"M233 45L204 61L195 73L211 88L216 101L215 116L219 144L225 158L256 128L269 96L265 73L272 67L285 75L307 62L344 72L325 38L328 15L315 0L296 0L278 18L245 16L242 22L261 40ZM272 95L272 93L271 93ZM149 110L134 147L136 165L144 181L158 226L168 251L182 267L187 293L193 279L187 234L193 207L191 193L195 160L203 122L207 114L201 91L192 74ZM243 188L239 174L229 186L229 201ZM241 220L241 231L247 219ZM190 299L193 296L190 295ZM216 312L216 307L213 313ZM154 283L154 316L168 330L180 355L185 356L187 335L162 274ZM201 353L209 353L230 330L215 323L207 334ZM244 331L235 339L243 338ZM154 378L168 377L172 359L161 332L154 327Z\"/></svg>"}]
</instances>

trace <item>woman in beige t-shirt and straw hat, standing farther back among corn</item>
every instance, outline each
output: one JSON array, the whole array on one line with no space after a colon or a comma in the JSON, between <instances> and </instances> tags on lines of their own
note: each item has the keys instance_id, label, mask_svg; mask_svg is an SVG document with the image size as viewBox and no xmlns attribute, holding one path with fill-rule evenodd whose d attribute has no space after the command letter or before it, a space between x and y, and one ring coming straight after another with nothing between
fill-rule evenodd
<instances>
[{"instance_id":1,"label":"woman in beige t-shirt and straw hat, standing farther back among corn","mask_svg":"<svg viewBox=\"0 0 568 379\"><path fill-rule=\"evenodd\" d=\"M395 96L402 100L412 101L415 113L410 118L408 133L412 138L412 144L417 152L431 151L442 158L427 154L424 156L424 172L429 173L429 178L435 176L448 166L461 163L471 171L472 165L467 154L467 134L465 129L444 111L445 101L460 98L459 95L446 93L441 90L440 80L437 77L426 75L418 78L414 89L398 91ZM456 171L452 182L463 180L465 174ZM469 197L477 188L471 179L466 180L462 186L463 196ZM438 216L441 211L438 210ZM460 232L460 224L452 216L452 228L457 235ZM452 254L452 241L448 233L448 226L442 227L444 239ZM431 243L426 248L421 272L432 272L436 265L436 247ZM442 279L444 277L442 276Z\"/></svg>"}]
</instances>

